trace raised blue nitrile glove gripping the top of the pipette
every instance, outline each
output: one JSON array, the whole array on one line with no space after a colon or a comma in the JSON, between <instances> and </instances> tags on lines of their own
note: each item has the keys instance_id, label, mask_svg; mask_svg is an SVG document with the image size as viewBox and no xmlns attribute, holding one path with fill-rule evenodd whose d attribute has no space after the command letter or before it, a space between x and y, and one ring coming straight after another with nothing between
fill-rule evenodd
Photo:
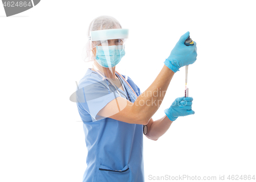
<instances>
[{"instance_id":1,"label":"raised blue nitrile glove gripping the top of the pipette","mask_svg":"<svg viewBox=\"0 0 256 182\"><path fill-rule=\"evenodd\" d=\"M180 37L170 56L164 61L165 66L173 72L179 71L182 66L193 64L197 60L197 43L194 41L195 44L190 46L184 44L188 36L189 32Z\"/></svg>"}]
</instances>

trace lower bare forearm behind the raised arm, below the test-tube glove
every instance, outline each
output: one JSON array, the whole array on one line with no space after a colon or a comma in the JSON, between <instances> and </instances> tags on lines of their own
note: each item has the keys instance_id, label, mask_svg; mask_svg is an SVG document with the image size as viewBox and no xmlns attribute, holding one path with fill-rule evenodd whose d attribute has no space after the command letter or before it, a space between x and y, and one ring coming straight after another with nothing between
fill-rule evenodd
<instances>
[{"instance_id":1,"label":"lower bare forearm behind the raised arm, below the test-tube glove","mask_svg":"<svg viewBox=\"0 0 256 182\"><path fill-rule=\"evenodd\" d=\"M158 140L165 132L169 129L170 125L173 123L173 121L170 121L169 118L165 115L161 119L158 119L156 121L151 120L148 123L148 132L146 134L147 138L150 138L151 140Z\"/></svg>"}]
</instances>

